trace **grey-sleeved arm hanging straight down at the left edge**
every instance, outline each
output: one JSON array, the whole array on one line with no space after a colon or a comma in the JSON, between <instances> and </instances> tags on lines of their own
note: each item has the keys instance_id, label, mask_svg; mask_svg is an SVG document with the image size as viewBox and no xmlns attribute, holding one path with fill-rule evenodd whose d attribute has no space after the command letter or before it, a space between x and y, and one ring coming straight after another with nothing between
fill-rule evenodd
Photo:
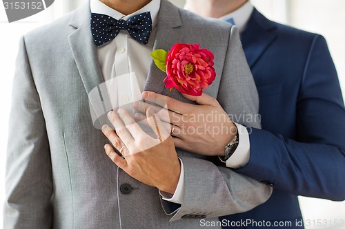
<instances>
[{"instance_id":1,"label":"grey-sleeved arm hanging straight down at the left edge","mask_svg":"<svg viewBox=\"0 0 345 229\"><path fill-rule=\"evenodd\" d=\"M9 129L4 228L51 228L50 150L24 39L17 56Z\"/></svg>"}]
</instances>

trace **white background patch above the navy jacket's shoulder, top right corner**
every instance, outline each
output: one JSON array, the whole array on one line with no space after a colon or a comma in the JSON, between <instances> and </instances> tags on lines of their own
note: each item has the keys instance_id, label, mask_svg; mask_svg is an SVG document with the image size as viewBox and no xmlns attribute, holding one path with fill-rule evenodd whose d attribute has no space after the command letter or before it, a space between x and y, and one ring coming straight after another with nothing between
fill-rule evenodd
<instances>
[{"instance_id":1,"label":"white background patch above the navy jacket's shoulder, top right corner","mask_svg":"<svg viewBox=\"0 0 345 229\"><path fill-rule=\"evenodd\" d=\"M322 34L328 43L345 98L345 1L251 0L273 21Z\"/></svg>"}]
</instances>

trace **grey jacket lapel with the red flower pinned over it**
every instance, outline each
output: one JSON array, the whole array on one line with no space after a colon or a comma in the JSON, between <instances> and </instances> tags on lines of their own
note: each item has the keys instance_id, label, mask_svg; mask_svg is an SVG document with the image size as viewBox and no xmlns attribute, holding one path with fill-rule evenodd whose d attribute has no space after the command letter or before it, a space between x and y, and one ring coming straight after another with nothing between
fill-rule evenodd
<instances>
[{"instance_id":1,"label":"grey jacket lapel with the red flower pinned over it","mask_svg":"<svg viewBox=\"0 0 345 229\"><path fill-rule=\"evenodd\" d=\"M169 1L161 0L153 50L162 49L168 51L172 45L181 42L183 34L180 30L181 25L179 9L173 6ZM170 92L170 89L165 87L164 78L166 78L166 73L162 72L152 61L144 90L154 91L158 94L164 94L185 101L186 99L177 89Z\"/></svg>"}]
</instances>

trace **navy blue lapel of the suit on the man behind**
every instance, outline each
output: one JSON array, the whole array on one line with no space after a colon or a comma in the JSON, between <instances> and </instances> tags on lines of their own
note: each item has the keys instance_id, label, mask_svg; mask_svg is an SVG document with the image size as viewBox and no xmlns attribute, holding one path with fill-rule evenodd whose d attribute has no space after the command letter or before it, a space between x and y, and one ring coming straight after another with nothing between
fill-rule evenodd
<instances>
[{"instance_id":1,"label":"navy blue lapel of the suit on the man behind","mask_svg":"<svg viewBox=\"0 0 345 229\"><path fill-rule=\"evenodd\" d=\"M273 33L277 26L254 9L241 41L250 68L255 65L257 59L275 41L277 36Z\"/></svg>"}]
</instances>

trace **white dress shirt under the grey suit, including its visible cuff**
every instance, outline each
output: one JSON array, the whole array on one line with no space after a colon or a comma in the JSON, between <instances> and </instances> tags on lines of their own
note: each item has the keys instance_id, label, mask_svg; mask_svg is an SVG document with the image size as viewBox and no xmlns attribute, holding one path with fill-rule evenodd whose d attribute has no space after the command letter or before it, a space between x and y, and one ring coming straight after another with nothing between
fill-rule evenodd
<instances>
[{"instance_id":1,"label":"white dress shirt under the grey suit, including its visible cuff","mask_svg":"<svg viewBox=\"0 0 345 229\"><path fill-rule=\"evenodd\" d=\"M135 14L149 11L152 18L152 33L146 45L132 39L127 30L121 30L115 39L97 47L99 65L113 108L141 100L141 92L152 61L150 53L155 42L160 3L161 0L152 0L140 10L124 15L99 0L90 0L92 13L106 14L117 20L127 20ZM159 191L163 199L177 204L181 204L184 195L184 166L181 160L180 162L181 173L175 194L172 196Z\"/></svg>"}]
</instances>

